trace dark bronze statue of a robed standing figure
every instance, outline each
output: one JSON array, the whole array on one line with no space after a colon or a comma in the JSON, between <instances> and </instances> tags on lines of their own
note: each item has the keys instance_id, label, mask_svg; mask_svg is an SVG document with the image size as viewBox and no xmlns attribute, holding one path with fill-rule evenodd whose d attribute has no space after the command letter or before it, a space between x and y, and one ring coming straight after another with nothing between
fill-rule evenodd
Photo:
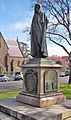
<instances>
[{"instance_id":1,"label":"dark bronze statue of a robed standing figure","mask_svg":"<svg viewBox=\"0 0 71 120\"><path fill-rule=\"evenodd\" d=\"M46 29L48 19L42 12L40 4L35 5L35 12L31 24L31 55L36 58L48 56L46 43Z\"/></svg>"}]
</instances>

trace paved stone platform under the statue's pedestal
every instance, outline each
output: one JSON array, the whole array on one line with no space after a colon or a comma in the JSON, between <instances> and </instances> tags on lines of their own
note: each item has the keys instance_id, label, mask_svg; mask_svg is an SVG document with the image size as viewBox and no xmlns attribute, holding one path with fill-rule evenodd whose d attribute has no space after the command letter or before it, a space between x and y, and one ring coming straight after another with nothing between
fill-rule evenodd
<instances>
[{"instance_id":1,"label":"paved stone platform under the statue's pedestal","mask_svg":"<svg viewBox=\"0 0 71 120\"><path fill-rule=\"evenodd\" d=\"M0 99L0 120L71 120L71 99L45 108L37 108L16 101Z\"/></svg>"}]
</instances>

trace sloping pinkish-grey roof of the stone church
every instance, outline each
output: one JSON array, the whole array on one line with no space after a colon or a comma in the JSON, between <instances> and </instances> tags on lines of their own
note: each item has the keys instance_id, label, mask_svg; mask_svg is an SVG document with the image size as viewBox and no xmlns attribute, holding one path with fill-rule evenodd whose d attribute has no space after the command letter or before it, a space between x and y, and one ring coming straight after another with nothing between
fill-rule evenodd
<instances>
[{"instance_id":1,"label":"sloping pinkish-grey roof of the stone church","mask_svg":"<svg viewBox=\"0 0 71 120\"><path fill-rule=\"evenodd\" d=\"M6 40L6 43L11 57L23 57L16 40Z\"/></svg>"}]
</instances>

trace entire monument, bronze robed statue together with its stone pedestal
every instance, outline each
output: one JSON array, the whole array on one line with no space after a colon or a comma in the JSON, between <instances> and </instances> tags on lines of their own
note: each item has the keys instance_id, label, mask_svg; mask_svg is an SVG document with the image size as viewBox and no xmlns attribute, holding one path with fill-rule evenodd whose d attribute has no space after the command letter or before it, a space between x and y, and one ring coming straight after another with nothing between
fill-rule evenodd
<instances>
[{"instance_id":1,"label":"entire monument, bronze robed statue together with its stone pedestal","mask_svg":"<svg viewBox=\"0 0 71 120\"><path fill-rule=\"evenodd\" d=\"M42 12L40 4L35 5L34 16L31 24L31 55L23 69L23 88L16 97L17 101L46 107L61 103L65 100L59 92L58 80L61 65L48 60L46 29L48 19Z\"/></svg>"}]
</instances>

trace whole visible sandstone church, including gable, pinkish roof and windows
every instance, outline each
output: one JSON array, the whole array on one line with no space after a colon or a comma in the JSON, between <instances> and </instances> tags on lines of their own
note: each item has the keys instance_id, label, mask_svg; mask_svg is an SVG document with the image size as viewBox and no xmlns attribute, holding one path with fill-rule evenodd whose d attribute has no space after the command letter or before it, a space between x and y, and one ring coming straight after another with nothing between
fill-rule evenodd
<instances>
[{"instance_id":1,"label":"whole visible sandstone church, including gable, pinkish roof and windows","mask_svg":"<svg viewBox=\"0 0 71 120\"><path fill-rule=\"evenodd\" d=\"M20 71L24 63L23 55L15 40L5 40L0 32L0 73Z\"/></svg>"}]
</instances>

